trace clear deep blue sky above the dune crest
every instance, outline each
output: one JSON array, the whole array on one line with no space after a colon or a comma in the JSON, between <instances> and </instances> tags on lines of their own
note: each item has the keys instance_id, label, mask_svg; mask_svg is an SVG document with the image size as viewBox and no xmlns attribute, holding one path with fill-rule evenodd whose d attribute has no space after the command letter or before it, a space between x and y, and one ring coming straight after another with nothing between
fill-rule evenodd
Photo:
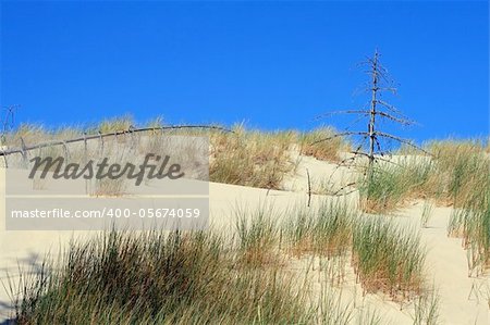
<instances>
[{"instance_id":1,"label":"clear deep blue sky above the dune crest","mask_svg":"<svg viewBox=\"0 0 490 325\"><path fill-rule=\"evenodd\" d=\"M401 135L488 135L487 1L2 1L1 103L47 126L309 129L368 100L356 63L375 48L400 84L389 99L421 124Z\"/></svg>"}]
</instances>

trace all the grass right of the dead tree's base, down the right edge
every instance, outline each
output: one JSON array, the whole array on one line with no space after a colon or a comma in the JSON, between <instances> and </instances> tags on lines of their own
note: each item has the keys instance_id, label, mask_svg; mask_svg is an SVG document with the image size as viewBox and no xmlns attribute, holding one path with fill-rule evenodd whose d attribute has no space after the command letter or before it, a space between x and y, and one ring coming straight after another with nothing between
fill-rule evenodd
<instances>
[{"instance_id":1,"label":"all the grass right of the dead tree's base, down the right edge","mask_svg":"<svg viewBox=\"0 0 490 325\"><path fill-rule=\"evenodd\" d=\"M470 272L481 273L490 266L490 158L485 148L478 140L433 141L426 145L431 158L376 165L359 180L360 208L388 213L417 198L452 205L449 234L463 238ZM427 204L422 226L430 216Z\"/></svg>"}]
</instances>

